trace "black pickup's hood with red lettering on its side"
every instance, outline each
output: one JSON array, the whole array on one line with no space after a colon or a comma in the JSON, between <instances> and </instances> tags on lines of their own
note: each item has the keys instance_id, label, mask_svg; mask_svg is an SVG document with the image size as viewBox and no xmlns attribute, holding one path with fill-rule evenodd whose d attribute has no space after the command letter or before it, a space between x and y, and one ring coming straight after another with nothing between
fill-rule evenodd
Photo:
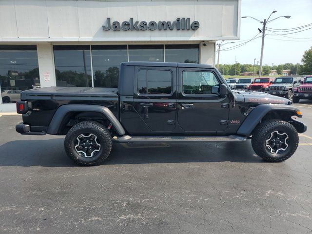
<instances>
[{"instance_id":1,"label":"black pickup's hood with red lettering on its side","mask_svg":"<svg viewBox=\"0 0 312 234\"><path fill-rule=\"evenodd\" d=\"M282 98L278 96L273 96L271 94L254 92L254 91L232 91L236 96L243 96L244 102L248 103L271 103L271 104L286 104L291 105L292 102L287 98ZM241 99L237 97L237 99Z\"/></svg>"}]
</instances>

